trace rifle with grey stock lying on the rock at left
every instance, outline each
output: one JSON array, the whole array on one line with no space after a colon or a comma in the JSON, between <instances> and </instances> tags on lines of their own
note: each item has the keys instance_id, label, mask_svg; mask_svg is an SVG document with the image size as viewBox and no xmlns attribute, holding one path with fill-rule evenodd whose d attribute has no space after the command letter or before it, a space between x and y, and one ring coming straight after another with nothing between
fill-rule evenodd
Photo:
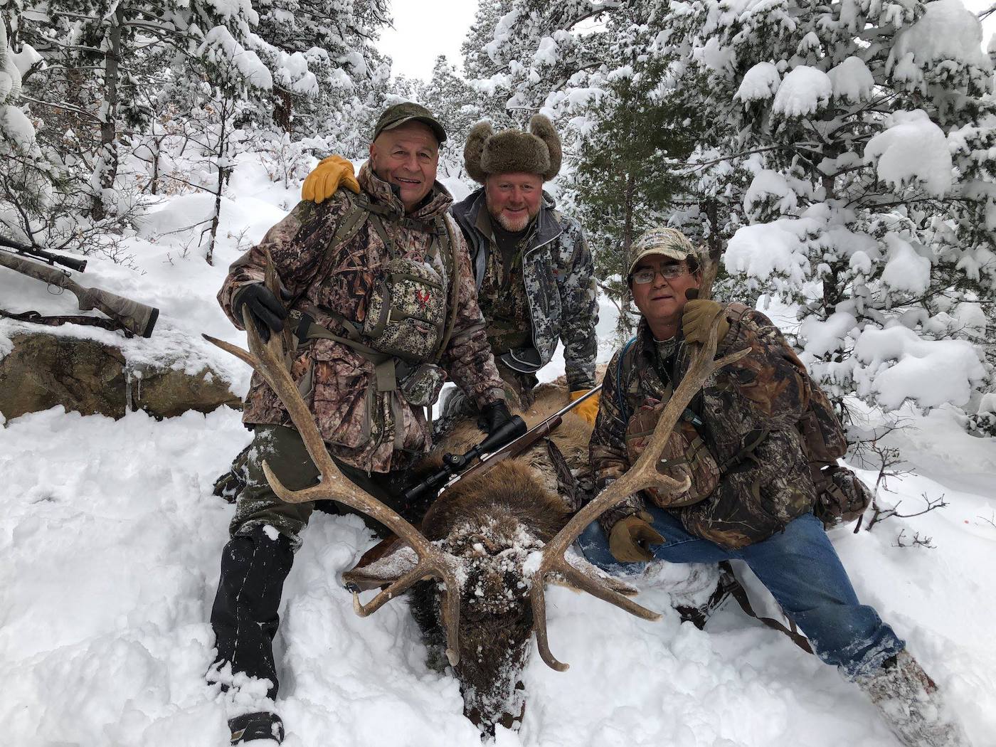
<instances>
[{"instance_id":1,"label":"rifle with grey stock lying on the rock at left","mask_svg":"<svg viewBox=\"0 0 996 747\"><path fill-rule=\"evenodd\" d=\"M60 264L83 272L87 266L86 260L60 257L5 238L0 238L0 246L10 248L0 249L0 265L43 283L70 291L76 296L81 311L98 309L111 317L125 332L140 335L143 338L151 337L152 329L159 318L158 309L139 304L137 301L131 301L122 296L116 296L100 288L86 288L74 281L69 272L54 267L54 265ZM10 251L11 249L13 251ZM37 260L42 260L52 267Z\"/></svg>"}]
</instances>

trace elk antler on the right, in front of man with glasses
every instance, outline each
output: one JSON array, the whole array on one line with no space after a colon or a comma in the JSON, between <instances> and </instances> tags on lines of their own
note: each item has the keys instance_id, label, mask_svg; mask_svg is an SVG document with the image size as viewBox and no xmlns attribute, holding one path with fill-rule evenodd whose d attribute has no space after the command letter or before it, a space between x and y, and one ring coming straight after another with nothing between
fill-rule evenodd
<instances>
[{"instance_id":1,"label":"elk antler on the right, in front of man with glasses","mask_svg":"<svg viewBox=\"0 0 996 747\"><path fill-rule=\"evenodd\" d=\"M533 575L533 586L530 591L533 604L533 628L536 630L536 644L540 649L540 656L549 666L558 671L565 671L568 664L562 663L554 657L553 653L550 652L550 641L547 638L546 590L544 587L547 577L551 574L560 574L567 580L569 586L616 605L637 618L643 620L660 618L657 613L626 599L620 591L613 588L614 585L611 582L607 583L606 580L579 571L567 561L564 553L568 546L584 531L585 527L621 503L627 496L649 487L668 493L682 493L691 486L691 481L687 477L679 481L660 474L657 471L657 460L681 413L684 412L685 407L702 388L709 376L750 353L750 348L746 348L724 356L718 361L713 361L712 359L716 355L718 327L719 319L717 318L705 343L696 346L697 350L692 354L688 373L682 377L681 382L664 406L660 413L660 419L657 420L653 429L653 434L650 436L646 448L636 459L635 464L630 466L622 477L607 485L593 501L575 514L567 526L543 549L543 557L539 568Z\"/></svg>"}]
</instances>

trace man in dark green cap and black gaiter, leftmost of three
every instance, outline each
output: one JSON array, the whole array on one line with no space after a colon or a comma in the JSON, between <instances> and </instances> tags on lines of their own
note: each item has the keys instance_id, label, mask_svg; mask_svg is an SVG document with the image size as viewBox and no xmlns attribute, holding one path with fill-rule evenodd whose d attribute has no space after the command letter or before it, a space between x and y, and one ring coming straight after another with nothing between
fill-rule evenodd
<instances>
[{"instance_id":1,"label":"man in dark green cap and black gaiter, leftmost of three","mask_svg":"<svg viewBox=\"0 0 996 747\"><path fill-rule=\"evenodd\" d=\"M337 234L348 216L357 215L357 198L339 193L322 205L299 203L262 243L232 264L218 294L239 329L243 309L248 309L264 337L291 322L302 330L299 319L308 323L307 331L320 331L303 336L291 372L346 477L410 519L417 519L411 514L416 507L402 505L398 496L405 468L431 443L424 407L408 401L401 368L395 370L396 382L391 377L391 385L381 386L371 358L347 342L350 330L364 325L388 261L411 260L431 268L447 294L445 319L453 320L440 367L477 404L484 429L493 430L508 417L466 245L446 215L452 198L435 181L438 145L444 138L442 126L424 108L402 104L388 109L374 130L371 159L359 174L367 219L345 235ZM448 241L442 240L443 230ZM283 301L290 302L290 315L263 285L267 257L282 284ZM450 315L453 303L455 314ZM438 387L428 403L437 393ZM277 498L262 463L268 462L292 489L315 484L318 477L286 408L258 374L245 398L243 421L253 428L254 438L211 614L218 652L209 679L245 691L234 683L238 675L248 675L263 682L268 699L233 716L233 744L282 732L272 702L278 682L271 642L283 582L313 509L313 504Z\"/></svg>"}]
</instances>

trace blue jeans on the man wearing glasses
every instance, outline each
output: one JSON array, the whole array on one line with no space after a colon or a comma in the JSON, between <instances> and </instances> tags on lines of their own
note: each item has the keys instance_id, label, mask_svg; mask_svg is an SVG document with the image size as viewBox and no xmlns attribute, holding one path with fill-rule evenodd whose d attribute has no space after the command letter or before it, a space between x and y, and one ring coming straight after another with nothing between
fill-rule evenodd
<instances>
[{"instance_id":1,"label":"blue jeans on the man wearing glasses","mask_svg":"<svg viewBox=\"0 0 996 747\"><path fill-rule=\"evenodd\" d=\"M785 531L739 550L727 550L689 534L678 519L648 506L653 528L664 543L650 548L668 563L742 560L768 588L785 614L806 633L816 654L853 679L871 673L905 646L869 606L861 605L848 572L813 514L800 516ZM578 538L590 563L612 572L638 573L645 564L620 563L597 521Z\"/></svg>"}]
</instances>

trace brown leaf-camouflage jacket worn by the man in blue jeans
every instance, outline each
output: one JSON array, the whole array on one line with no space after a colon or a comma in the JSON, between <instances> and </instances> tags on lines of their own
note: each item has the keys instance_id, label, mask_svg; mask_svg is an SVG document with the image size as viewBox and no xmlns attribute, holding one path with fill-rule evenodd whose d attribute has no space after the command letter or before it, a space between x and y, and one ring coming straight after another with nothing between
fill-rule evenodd
<instances>
[{"instance_id":1,"label":"brown leaf-camouflage jacket worn by the man in blue jeans","mask_svg":"<svg viewBox=\"0 0 996 747\"><path fill-rule=\"evenodd\" d=\"M805 368L760 312L748 312L739 321L734 315L728 319L730 330L717 356L747 347L751 353L714 373L689 405L702 421L699 434L719 465L719 483L700 503L668 510L690 533L738 548L767 539L812 510L816 489L796 427L810 397ZM640 321L622 366L621 354L617 352L606 372L592 433L592 468L599 488L629 467L629 418L644 404L666 401L669 381L680 381L689 365L683 341L669 362L658 361L645 321ZM747 453L745 446L761 435L760 444ZM643 510L645 500L638 493L606 512L601 517L606 532L622 517Z\"/></svg>"}]
</instances>

